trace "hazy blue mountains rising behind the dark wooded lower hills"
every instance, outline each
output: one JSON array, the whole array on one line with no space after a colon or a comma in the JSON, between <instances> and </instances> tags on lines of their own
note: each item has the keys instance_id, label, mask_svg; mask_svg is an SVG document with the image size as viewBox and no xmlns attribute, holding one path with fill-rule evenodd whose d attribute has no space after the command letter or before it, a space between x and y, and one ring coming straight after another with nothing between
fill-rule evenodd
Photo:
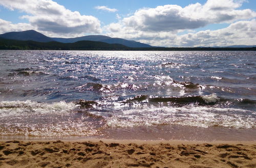
<instances>
[{"instance_id":1,"label":"hazy blue mountains rising behind the dark wooded lower hills","mask_svg":"<svg viewBox=\"0 0 256 168\"><path fill-rule=\"evenodd\" d=\"M146 48L152 47L151 45L140 43L132 40L125 40L121 38L111 38L108 36L101 35L90 35L90 36L82 36L76 38L52 38L47 37L39 32L34 30L23 31L23 32L9 32L0 35L0 38L11 39L11 40L20 40L20 41L36 41L36 42L60 42L60 43L75 43L78 41L98 41L109 44L122 44L127 47L132 48Z\"/></svg>"}]
</instances>

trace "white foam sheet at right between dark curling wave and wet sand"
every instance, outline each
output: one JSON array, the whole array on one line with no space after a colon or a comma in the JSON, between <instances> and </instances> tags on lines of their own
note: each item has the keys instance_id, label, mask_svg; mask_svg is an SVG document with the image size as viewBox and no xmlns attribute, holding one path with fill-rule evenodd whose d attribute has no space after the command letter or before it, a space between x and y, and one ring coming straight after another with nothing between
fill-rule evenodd
<instances>
[{"instance_id":1,"label":"white foam sheet at right between dark curling wave and wet sand","mask_svg":"<svg viewBox=\"0 0 256 168\"><path fill-rule=\"evenodd\" d=\"M113 117L106 118L106 124L110 127L178 124L205 128L212 126L256 128L255 118L250 115L246 116L245 113L253 114L253 111L194 105L183 107L150 106L118 111Z\"/></svg>"}]
</instances>

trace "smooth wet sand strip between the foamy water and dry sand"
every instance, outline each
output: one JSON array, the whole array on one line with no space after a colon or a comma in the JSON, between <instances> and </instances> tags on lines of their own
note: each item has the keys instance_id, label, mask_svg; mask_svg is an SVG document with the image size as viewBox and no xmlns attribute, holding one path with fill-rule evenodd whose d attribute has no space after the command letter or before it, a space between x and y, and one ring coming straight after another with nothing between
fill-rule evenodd
<instances>
[{"instance_id":1,"label":"smooth wet sand strip between the foamy water and dry sand","mask_svg":"<svg viewBox=\"0 0 256 168\"><path fill-rule=\"evenodd\" d=\"M184 142L253 142L256 129L230 127L190 127L181 125L148 126L134 128L106 128L98 135L0 135L0 141L90 141L91 139L112 139L114 141L184 141ZM111 140L111 141L112 141Z\"/></svg>"}]
</instances>

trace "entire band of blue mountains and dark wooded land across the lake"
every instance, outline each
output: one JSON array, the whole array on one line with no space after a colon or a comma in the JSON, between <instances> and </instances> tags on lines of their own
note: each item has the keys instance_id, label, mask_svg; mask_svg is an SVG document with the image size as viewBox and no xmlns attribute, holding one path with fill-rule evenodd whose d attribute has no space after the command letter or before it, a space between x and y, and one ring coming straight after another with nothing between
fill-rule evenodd
<instances>
[{"instance_id":1,"label":"entire band of blue mountains and dark wooded land across the lake","mask_svg":"<svg viewBox=\"0 0 256 168\"><path fill-rule=\"evenodd\" d=\"M64 49L64 50L255 50L256 45L214 47L154 47L121 38L90 35L76 38L52 38L34 30L0 35L0 49Z\"/></svg>"}]
</instances>

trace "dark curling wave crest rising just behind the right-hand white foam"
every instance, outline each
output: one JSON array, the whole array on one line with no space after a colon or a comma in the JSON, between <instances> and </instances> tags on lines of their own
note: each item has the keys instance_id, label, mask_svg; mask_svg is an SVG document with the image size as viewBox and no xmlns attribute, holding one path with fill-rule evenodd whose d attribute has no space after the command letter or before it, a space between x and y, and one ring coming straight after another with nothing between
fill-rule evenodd
<instances>
[{"instance_id":1,"label":"dark curling wave crest rising just behind the right-hand white foam","mask_svg":"<svg viewBox=\"0 0 256 168\"><path fill-rule=\"evenodd\" d=\"M120 96L113 95L102 97L96 101L93 100L82 100L75 101L75 104L79 105L80 108L87 109L102 109L106 106L111 106L113 110L117 108L125 107L129 105L133 108L133 105L140 105L143 107L144 104L154 106L169 106L169 107L181 107L186 105L197 105L197 106L212 106L212 105L254 105L255 100L249 99L226 99L218 97L216 94L204 95L204 96L185 96L185 97L160 97L160 96L148 96L148 95L137 95L124 100L120 100Z\"/></svg>"}]
</instances>

